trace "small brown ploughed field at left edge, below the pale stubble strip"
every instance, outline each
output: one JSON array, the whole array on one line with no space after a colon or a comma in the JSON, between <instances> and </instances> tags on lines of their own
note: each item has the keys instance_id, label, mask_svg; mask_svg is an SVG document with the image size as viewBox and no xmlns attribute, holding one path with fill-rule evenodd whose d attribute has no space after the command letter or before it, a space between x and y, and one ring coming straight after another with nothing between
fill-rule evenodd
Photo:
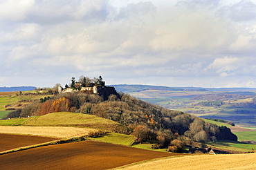
<instances>
[{"instance_id":1,"label":"small brown ploughed field at left edge, below the pale stubble strip","mask_svg":"<svg viewBox=\"0 0 256 170\"><path fill-rule=\"evenodd\" d=\"M19 148L19 147L26 147L29 145L50 142L53 140L57 140L57 138L47 138L47 137L30 136L30 135L10 135L10 134L0 133L0 152Z\"/></svg>"}]
</instances>

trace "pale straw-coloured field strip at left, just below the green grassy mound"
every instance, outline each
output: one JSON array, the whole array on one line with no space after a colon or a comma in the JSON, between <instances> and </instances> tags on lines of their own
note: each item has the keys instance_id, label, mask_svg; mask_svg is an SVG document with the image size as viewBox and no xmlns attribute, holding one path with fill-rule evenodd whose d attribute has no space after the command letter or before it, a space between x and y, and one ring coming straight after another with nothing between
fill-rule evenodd
<instances>
[{"instance_id":1,"label":"pale straw-coloured field strip at left, just below the green grassy mound","mask_svg":"<svg viewBox=\"0 0 256 170\"><path fill-rule=\"evenodd\" d=\"M0 126L0 133L40 135L51 138L72 138L87 135L95 129L62 126Z\"/></svg>"}]
</instances>

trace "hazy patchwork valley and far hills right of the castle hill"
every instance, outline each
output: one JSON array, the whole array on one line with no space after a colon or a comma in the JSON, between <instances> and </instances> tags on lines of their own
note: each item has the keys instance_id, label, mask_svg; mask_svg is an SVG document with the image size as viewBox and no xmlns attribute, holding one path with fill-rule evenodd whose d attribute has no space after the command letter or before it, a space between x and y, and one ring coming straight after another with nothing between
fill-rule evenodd
<instances>
[{"instance_id":1,"label":"hazy patchwork valley and far hills right of the castle hill","mask_svg":"<svg viewBox=\"0 0 256 170\"><path fill-rule=\"evenodd\" d=\"M145 102L190 113L196 117L232 121L237 126L248 128L256 127L255 88L118 85L116 90L129 93Z\"/></svg>"}]
</instances>

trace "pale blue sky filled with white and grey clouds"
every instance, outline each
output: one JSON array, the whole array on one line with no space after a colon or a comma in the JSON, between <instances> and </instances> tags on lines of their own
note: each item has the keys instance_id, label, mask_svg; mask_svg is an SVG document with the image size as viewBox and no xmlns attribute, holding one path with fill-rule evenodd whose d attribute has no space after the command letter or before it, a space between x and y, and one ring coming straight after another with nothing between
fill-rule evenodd
<instances>
[{"instance_id":1,"label":"pale blue sky filled with white and grey clouds","mask_svg":"<svg viewBox=\"0 0 256 170\"><path fill-rule=\"evenodd\" d=\"M0 86L256 87L256 0L1 0Z\"/></svg>"}]
</instances>

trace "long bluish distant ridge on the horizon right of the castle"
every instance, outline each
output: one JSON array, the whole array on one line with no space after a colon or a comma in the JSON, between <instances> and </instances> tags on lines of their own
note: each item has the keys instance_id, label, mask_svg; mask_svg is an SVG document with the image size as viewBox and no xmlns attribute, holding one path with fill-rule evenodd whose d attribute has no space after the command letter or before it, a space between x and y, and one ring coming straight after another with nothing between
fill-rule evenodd
<instances>
[{"instance_id":1,"label":"long bluish distant ridge on the horizon right of the castle","mask_svg":"<svg viewBox=\"0 0 256 170\"><path fill-rule=\"evenodd\" d=\"M116 91L123 93L132 93L146 90L158 91L256 91L256 88L203 88L203 87L168 87L168 86L150 86L140 84L116 84L110 85L116 88Z\"/></svg>"}]
</instances>

